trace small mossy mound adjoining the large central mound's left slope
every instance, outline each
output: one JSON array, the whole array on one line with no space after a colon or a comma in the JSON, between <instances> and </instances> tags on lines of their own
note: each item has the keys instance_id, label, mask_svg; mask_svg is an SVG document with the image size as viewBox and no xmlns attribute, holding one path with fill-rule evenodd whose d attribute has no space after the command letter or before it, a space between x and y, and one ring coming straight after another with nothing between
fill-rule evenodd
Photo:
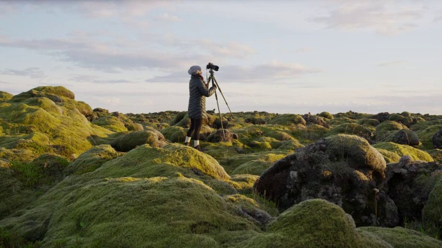
<instances>
[{"instance_id":1,"label":"small mossy mound adjoining the large central mound's left slope","mask_svg":"<svg viewBox=\"0 0 442 248\"><path fill-rule=\"evenodd\" d=\"M66 168L68 174L84 174L93 172L107 161L111 161L119 156L111 145L97 145L81 154L75 161Z\"/></svg>"}]
</instances>

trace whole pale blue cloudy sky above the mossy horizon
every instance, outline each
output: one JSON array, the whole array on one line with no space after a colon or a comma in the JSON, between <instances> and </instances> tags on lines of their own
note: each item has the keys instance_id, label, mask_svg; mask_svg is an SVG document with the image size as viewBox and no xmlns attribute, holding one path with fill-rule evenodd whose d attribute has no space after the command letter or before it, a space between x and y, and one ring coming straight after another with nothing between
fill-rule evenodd
<instances>
[{"instance_id":1,"label":"whole pale blue cloudy sky above the mossy horizon","mask_svg":"<svg viewBox=\"0 0 442 248\"><path fill-rule=\"evenodd\" d=\"M0 0L0 91L186 111L209 62L221 113L442 114L442 1Z\"/></svg>"}]
</instances>

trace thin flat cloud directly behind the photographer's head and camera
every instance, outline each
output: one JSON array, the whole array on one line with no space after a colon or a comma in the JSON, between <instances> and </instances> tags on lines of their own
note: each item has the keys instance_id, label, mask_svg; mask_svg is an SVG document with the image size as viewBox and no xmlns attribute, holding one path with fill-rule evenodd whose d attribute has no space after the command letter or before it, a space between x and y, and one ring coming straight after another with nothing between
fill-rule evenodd
<instances>
[{"instance_id":1,"label":"thin flat cloud directly behind the photographer's head and camera","mask_svg":"<svg viewBox=\"0 0 442 248\"><path fill-rule=\"evenodd\" d=\"M230 83L265 83L268 81L282 82L290 81L304 74L318 73L320 70L307 68L298 63L281 63L272 61L264 65L228 65L220 66L223 82ZM215 72L216 74L217 72ZM215 75L216 77L216 75ZM218 80L218 77L216 77ZM173 72L164 76L155 76L147 79L146 82L182 82L189 80L189 74L184 72Z\"/></svg>"}]
</instances>

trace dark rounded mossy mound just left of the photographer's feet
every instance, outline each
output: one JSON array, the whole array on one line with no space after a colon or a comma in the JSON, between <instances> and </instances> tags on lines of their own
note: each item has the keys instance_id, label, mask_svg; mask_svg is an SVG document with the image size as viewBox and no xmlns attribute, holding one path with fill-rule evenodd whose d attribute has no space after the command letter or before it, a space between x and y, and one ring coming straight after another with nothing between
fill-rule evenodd
<instances>
[{"instance_id":1,"label":"dark rounded mossy mound just left of the photographer's feet","mask_svg":"<svg viewBox=\"0 0 442 248\"><path fill-rule=\"evenodd\" d=\"M166 139L157 130L134 131L122 134L115 138L109 145L119 152L128 152L139 145L148 144L152 147L163 147Z\"/></svg>"}]
</instances>

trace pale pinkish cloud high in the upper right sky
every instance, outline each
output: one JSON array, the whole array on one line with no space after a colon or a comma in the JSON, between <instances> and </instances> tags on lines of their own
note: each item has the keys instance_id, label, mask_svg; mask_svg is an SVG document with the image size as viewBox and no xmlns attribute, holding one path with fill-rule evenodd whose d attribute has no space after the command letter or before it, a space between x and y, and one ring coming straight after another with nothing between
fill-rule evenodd
<instances>
[{"instance_id":1,"label":"pale pinkish cloud high in the upper right sky","mask_svg":"<svg viewBox=\"0 0 442 248\"><path fill-rule=\"evenodd\" d=\"M416 6L388 4L388 1L344 1L321 17L311 21L324 23L327 28L375 30L379 34L397 34L416 27L423 17L423 10ZM417 9L417 10L416 10Z\"/></svg>"}]
</instances>

